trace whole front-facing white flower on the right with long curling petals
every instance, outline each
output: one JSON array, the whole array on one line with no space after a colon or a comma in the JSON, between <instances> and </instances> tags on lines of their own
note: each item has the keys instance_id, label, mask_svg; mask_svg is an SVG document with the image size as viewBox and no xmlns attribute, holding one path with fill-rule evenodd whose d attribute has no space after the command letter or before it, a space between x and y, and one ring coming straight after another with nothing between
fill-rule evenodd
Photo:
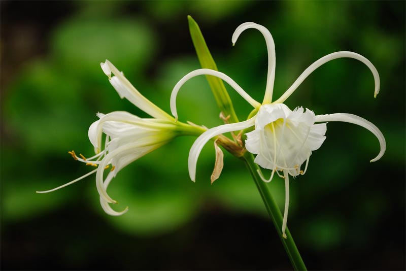
<instances>
[{"instance_id":1,"label":"whole front-facing white flower on the right with long curling petals","mask_svg":"<svg viewBox=\"0 0 406 271\"><path fill-rule=\"evenodd\" d=\"M257 112L257 114L250 119L239 123L224 124L211 128L197 138L189 152L189 175L191 180L195 181L197 158L201 149L209 140L219 136L222 133L243 130L255 125L255 129L253 131L246 133L247 140L245 142L245 146L249 152L257 155L255 158L255 162L257 164L272 170L271 176L267 180L259 172L263 181L270 182L275 172L280 177L285 179L286 199L282 232L283 236L286 238L285 229L289 206L289 175L295 177L306 172L312 151L320 148L325 140L324 134L327 129L326 122L349 122L360 125L374 133L379 140L381 150L378 156L372 159L371 162L377 161L382 157L386 150L386 142L382 132L374 124L356 115L335 113L316 116L313 111L308 109L304 111L303 108L296 108L292 111L286 105L284 105L283 102L314 70L316 70L322 64L336 58L354 58L368 66L370 71L373 73L375 80L374 97L376 97L379 93L380 80L375 66L365 57L348 51L335 52L320 58L310 65L297 78L292 86L286 90L286 92L279 99L273 102L272 94L274 88L276 63L274 40L272 35L270 35L270 32L262 25L258 25L253 22L246 22L235 29L232 35L233 45L241 33L248 28L255 28L262 33L268 49L268 74L262 104L254 100L227 75L209 69L199 69L187 74L179 81L178 84L176 84L171 96L171 111L175 118L178 118L176 111L177 93L180 87L187 80L197 75L211 75L221 78L254 107L254 112ZM315 124L317 122L323 123ZM301 165L304 161L307 161L307 163L302 171ZM281 176L278 171L283 171L283 176Z\"/></svg>"}]
</instances>

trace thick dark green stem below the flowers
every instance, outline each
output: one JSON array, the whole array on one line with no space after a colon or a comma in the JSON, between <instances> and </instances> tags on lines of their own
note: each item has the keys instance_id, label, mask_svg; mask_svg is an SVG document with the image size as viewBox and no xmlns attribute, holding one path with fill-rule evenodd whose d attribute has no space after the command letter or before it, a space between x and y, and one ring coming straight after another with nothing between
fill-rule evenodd
<instances>
[{"instance_id":1,"label":"thick dark green stem below the flowers","mask_svg":"<svg viewBox=\"0 0 406 271\"><path fill-rule=\"evenodd\" d=\"M258 175L259 167L256 163L254 163L254 156L251 153L246 152L242 158L246 163L252 175L252 178L254 179L254 182L258 188L259 193L261 194L266 210L268 211L269 216L272 219L272 222L274 222L275 228L278 232L278 235L282 241L283 246L285 247L286 253L288 254L288 257L293 265L293 268L295 270L307 270L306 265L304 265L304 262L300 256L299 251L297 250L293 237L290 234L288 228L286 228L285 231L287 238L284 239L282 237L282 221L283 221L282 213L279 210L279 207L277 206L272 194L269 192L266 183L264 183Z\"/></svg>"}]
</instances>

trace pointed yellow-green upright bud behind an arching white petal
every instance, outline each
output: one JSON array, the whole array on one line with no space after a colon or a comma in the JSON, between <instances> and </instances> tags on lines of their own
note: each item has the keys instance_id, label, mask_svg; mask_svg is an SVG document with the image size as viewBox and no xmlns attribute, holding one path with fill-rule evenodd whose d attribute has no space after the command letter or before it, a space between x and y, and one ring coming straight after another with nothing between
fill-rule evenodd
<instances>
[{"instance_id":1,"label":"pointed yellow-green upright bud behind an arching white petal","mask_svg":"<svg viewBox=\"0 0 406 271\"><path fill-rule=\"evenodd\" d=\"M197 57L202 68L217 70L216 63L207 47L205 38L201 34L200 28L191 16L188 16L190 36L192 37L194 48L196 49ZM210 88L216 98L217 106L224 113L225 116L230 115L230 122L238 122L234 108L231 103L230 96L220 78L214 76L206 76Z\"/></svg>"}]
</instances>

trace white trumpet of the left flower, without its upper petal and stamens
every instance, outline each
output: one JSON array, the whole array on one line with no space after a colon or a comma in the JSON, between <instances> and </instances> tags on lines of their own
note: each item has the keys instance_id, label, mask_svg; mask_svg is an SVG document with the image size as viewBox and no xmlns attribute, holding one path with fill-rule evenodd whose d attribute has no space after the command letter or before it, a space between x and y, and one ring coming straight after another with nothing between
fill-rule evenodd
<instances>
[{"instance_id":1,"label":"white trumpet of the left flower, without its upper petal and stamens","mask_svg":"<svg viewBox=\"0 0 406 271\"><path fill-rule=\"evenodd\" d=\"M177 135L177 125L159 119L142 119L127 112L98 114L99 120L89 128L89 140L99 149L103 132L107 139L104 157L98 164L96 187L100 198L116 203L106 191L111 178L129 163L170 142ZM103 131L103 132L102 132ZM114 169L104 180L104 168L112 164ZM107 183L107 184L106 184Z\"/></svg>"}]
</instances>

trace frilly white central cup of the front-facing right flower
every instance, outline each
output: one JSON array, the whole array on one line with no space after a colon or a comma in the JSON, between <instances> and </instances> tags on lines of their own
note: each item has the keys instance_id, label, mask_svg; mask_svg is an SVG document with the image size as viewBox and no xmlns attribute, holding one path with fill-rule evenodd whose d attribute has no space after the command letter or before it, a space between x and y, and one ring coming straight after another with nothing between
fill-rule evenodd
<instances>
[{"instance_id":1,"label":"frilly white central cup of the front-facing right flower","mask_svg":"<svg viewBox=\"0 0 406 271\"><path fill-rule=\"evenodd\" d=\"M246 148L257 154L255 162L273 171L286 170L289 175L304 174L301 164L325 140L326 124L314 124L312 111L291 111L284 104L263 105L259 109L255 130L247 133Z\"/></svg>"}]
</instances>

